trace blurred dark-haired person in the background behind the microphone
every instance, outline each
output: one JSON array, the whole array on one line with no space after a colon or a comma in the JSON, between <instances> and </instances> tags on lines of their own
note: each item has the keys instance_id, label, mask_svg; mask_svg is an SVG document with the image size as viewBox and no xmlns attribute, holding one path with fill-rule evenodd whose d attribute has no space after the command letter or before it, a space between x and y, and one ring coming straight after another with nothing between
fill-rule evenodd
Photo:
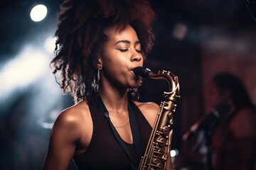
<instances>
[{"instance_id":1,"label":"blurred dark-haired person in the background behind the microphone","mask_svg":"<svg viewBox=\"0 0 256 170\"><path fill-rule=\"evenodd\" d=\"M213 135L214 169L255 169L256 111L245 86L233 74L220 73L213 77L209 92L213 106L230 104Z\"/></svg>"}]
</instances>

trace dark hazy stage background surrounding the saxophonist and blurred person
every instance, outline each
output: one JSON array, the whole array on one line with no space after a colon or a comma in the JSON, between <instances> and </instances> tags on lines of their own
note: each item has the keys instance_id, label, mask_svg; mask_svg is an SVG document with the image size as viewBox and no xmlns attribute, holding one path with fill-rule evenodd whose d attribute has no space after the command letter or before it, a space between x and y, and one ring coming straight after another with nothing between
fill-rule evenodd
<instances>
[{"instance_id":1,"label":"dark hazy stage background surrounding the saxophonist and blurred person","mask_svg":"<svg viewBox=\"0 0 256 170\"><path fill-rule=\"evenodd\" d=\"M0 169L41 169L50 127L58 113L73 104L72 98L62 96L50 73L48 62L53 54L43 50L46 38L53 36L60 3L0 2ZM46 18L38 23L29 17L36 4L48 6ZM174 114L171 146L182 155L187 152L183 133L210 111L207 88L215 73L236 74L256 103L256 22L242 0L152 0L151 5L157 16L156 43L146 66L154 72L169 70L179 78L181 100ZM27 66L38 51L46 56L45 62ZM165 81L146 79L140 100L160 103L167 88Z\"/></svg>"}]
</instances>

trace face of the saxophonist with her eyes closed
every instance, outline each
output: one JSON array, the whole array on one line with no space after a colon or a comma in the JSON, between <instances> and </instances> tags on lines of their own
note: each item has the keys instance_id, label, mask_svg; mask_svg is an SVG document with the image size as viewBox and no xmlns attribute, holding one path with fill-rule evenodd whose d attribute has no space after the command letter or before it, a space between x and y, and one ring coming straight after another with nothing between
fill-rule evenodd
<instances>
[{"instance_id":1,"label":"face of the saxophonist with her eyes closed","mask_svg":"<svg viewBox=\"0 0 256 170\"><path fill-rule=\"evenodd\" d=\"M141 43L132 26L117 31L113 26L105 31L109 40L105 42L102 56L98 60L102 64L102 81L110 82L114 86L134 88L139 86L140 79L135 77L132 69L143 65Z\"/></svg>"}]
</instances>

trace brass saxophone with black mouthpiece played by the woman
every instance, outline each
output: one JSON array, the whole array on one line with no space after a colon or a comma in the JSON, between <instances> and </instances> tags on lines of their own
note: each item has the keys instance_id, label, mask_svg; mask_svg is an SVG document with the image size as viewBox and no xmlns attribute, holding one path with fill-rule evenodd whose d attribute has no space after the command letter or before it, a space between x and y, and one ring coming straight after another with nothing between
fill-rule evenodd
<instances>
[{"instance_id":1,"label":"brass saxophone with black mouthpiece played by the woman","mask_svg":"<svg viewBox=\"0 0 256 170\"><path fill-rule=\"evenodd\" d=\"M169 91L164 91L164 101L160 104L146 151L139 164L139 170L166 169L173 134L173 115L176 111L176 101L180 98L178 77L164 70L154 74L150 69L143 67L136 67L134 74L151 79L165 79L169 83Z\"/></svg>"}]
</instances>

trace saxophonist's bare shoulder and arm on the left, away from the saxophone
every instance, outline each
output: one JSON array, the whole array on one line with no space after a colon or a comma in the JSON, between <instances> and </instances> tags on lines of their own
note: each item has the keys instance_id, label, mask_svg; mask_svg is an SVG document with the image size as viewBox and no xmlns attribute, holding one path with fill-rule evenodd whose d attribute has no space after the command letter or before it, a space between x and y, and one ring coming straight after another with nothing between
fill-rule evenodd
<instances>
[{"instance_id":1,"label":"saxophonist's bare shoulder and arm on the left, away from the saxophone","mask_svg":"<svg viewBox=\"0 0 256 170\"><path fill-rule=\"evenodd\" d=\"M87 102L62 111L55 120L50 133L48 153L43 169L68 169L75 152L86 149L90 142L92 127Z\"/></svg>"}]
</instances>

